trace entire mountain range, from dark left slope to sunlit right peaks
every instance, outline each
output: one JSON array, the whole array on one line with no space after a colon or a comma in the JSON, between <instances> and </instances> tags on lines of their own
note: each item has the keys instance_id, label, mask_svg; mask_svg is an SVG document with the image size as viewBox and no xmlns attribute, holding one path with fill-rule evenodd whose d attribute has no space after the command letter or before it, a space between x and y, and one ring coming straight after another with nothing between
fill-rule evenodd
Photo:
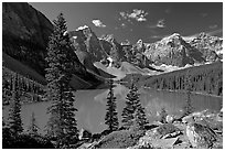
<instances>
[{"instance_id":1,"label":"entire mountain range, from dark left slope to sunlit right peaks","mask_svg":"<svg viewBox=\"0 0 225 151\"><path fill-rule=\"evenodd\" d=\"M44 77L46 46L53 24L28 3L2 3L3 60L17 61ZM81 80L82 88L89 88L106 78L122 78L127 74L152 75L167 69L160 66L184 67L223 58L223 40L201 33L184 39L179 33L154 43L139 40L118 43L113 34L98 37L87 25L67 32L77 55L73 85ZM13 58L10 60L9 58ZM13 67L3 64L17 72ZM21 73L21 71L18 71ZM22 74L26 76L26 73Z\"/></svg>"}]
</instances>

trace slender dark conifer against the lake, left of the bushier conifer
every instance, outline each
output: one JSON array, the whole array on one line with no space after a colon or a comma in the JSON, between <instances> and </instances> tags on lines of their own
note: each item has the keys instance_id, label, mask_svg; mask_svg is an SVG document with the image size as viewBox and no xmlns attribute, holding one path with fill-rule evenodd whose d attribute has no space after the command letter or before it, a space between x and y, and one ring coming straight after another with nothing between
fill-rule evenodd
<instances>
[{"instance_id":1,"label":"slender dark conifer against the lake, left of the bushier conifer","mask_svg":"<svg viewBox=\"0 0 225 151\"><path fill-rule=\"evenodd\" d=\"M107 112L105 123L108 126L109 131L115 131L119 127L117 111L116 111L116 97L114 96L113 79L110 79L110 88L107 97Z\"/></svg>"}]
</instances>

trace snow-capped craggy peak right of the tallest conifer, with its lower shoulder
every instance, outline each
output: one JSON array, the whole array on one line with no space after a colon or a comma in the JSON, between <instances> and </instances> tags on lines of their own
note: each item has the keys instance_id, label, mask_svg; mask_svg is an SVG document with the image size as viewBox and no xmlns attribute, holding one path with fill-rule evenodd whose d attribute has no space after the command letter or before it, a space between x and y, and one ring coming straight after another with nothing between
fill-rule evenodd
<instances>
[{"instance_id":1,"label":"snow-capped craggy peak right of the tallest conifer, with its lower shoulder","mask_svg":"<svg viewBox=\"0 0 225 151\"><path fill-rule=\"evenodd\" d=\"M68 32L68 34L83 64L104 62L108 57L113 58L115 63L122 60L122 46L115 40L113 34L97 37L87 25L79 26L77 30Z\"/></svg>"}]
</instances>

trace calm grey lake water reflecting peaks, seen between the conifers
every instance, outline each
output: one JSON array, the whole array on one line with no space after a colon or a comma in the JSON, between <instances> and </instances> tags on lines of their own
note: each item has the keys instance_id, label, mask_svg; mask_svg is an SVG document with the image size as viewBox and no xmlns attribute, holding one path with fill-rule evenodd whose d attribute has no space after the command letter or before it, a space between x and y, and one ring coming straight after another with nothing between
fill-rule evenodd
<instances>
[{"instance_id":1,"label":"calm grey lake water reflecting peaks, seen between the conifers","mask_svg":"<svg viewBox=\"0 0 225 151\"><path fill-rule=\"evenodd\" d=\"M129 91L122 85L117 85L114 88L115 95L117 97L117 111L119 119L121 118L121 111L125 107L126 95ZM140 99L141 104L146 108L148 119L150 121L157 119L157 115L162 107L165 108L168 114L178 115L185 103L185 94L183 93L172 93L172 91L161 91L153 89L140 88ZM76 119L78 129L85 128L92 132L100 132L107 127L105 126L105 115L106 115L106 97L108 89L94 89L94 90L78 90L76 91L75 107L78 109L76 112ZM204 96L204 95L192 95L192 105L195 110L221 110L221 105L223 101L222 97ZM34 112L38 126L41 133L44 131L44 127L49 120L49 115L46 115L46 108L51 103L35 103L22 105L22 122L24 129L26 129L31 122L31 115ZM9 107L3 109L3 118L8 118Z\"/></svg>"}]
</instances>

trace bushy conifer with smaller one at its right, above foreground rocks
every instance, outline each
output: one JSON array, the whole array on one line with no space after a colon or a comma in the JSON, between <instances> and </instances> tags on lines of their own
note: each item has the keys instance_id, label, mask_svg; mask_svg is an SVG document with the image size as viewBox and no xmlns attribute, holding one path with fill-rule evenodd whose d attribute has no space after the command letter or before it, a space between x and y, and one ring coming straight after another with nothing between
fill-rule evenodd
<instances>
[{"instance_id":1,"label":"bushy conifer with smaller one at its right, above foreground rocks","mask_svg":"<svg viewBox=\"0 0 225 151\"><path fill-rule=\"evenodd\" d=\"M137 109L138 109L137 114L143 116L143 117L138 116L138 118L140 118L140 120L141 120L141 125L147 123L144 109L141 107L139 96L140 96L140 94L138 94L138 88L136 87L136 85L132 80L130 91L126 97L126 99L127 99L126 107L124 108L122 114L121 114L121 117L122 117L121 122L122 122L122 127L125 129L129 129L132 126L133 119L135 119L135 111Z\"/></svg>"}]
</instances>

